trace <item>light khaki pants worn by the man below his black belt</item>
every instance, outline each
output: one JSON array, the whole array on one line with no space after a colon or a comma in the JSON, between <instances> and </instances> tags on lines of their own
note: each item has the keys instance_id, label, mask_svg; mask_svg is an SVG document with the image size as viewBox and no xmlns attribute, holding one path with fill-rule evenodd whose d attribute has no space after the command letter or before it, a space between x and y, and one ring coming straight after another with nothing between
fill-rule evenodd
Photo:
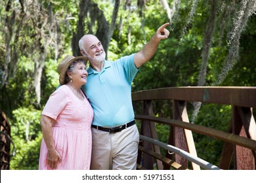
<instances>
[{"instance_id":1,"label":"light khaki pants worn by the man below his black belt","mask_svg":"<svg viewBox=\"0 0 256 183\"><path fill-rule=\"evenodd\" d=\"M91 170L135 170L139 144L137 125L117 133L92 128Z\"/></svg>"}]
</instances>

